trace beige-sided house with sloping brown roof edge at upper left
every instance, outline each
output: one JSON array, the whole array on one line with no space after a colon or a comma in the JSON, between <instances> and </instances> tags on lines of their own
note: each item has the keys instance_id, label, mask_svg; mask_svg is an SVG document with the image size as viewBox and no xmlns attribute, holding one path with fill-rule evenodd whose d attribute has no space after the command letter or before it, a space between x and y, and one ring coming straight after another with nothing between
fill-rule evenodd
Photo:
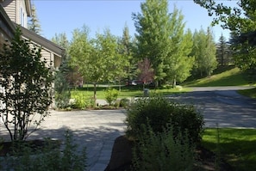
<instances>
[{"instance_id":1,"label":"beige-sided house with sloping brown roof edge at upper left","mask_svg":"<svg viewBox=\"0 0 256 171\"><path fill-rule=\"evenodd\" d=\"M48 64L52 62L55 69L59 68L64 48L50 40L28 30L28 17L31 16L30 0L0 0L0 46L5 40L11 40L16 27L21 27L22 37L41 46L41 56Z\"/></svg>"}]
</instances>

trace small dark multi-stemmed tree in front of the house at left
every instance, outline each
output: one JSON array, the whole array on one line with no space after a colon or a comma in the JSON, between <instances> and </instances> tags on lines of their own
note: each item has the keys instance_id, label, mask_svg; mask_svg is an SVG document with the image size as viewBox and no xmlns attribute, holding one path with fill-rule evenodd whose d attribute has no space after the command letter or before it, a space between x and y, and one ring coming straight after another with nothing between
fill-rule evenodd
<instances>
[{"instance_id":1,"label":"small dark multi-stemmed tree in front of the house at left","mask_svg":"<svg viewBox=\"0 0 256 171\"><path fill-rule=\"evenodd\" d=\"M21 35L17 28L14 39L0 52L0 117L12 141L35 131L52 103L53 72L41 59L41 48Z\"/></svg>"}]
</instances>

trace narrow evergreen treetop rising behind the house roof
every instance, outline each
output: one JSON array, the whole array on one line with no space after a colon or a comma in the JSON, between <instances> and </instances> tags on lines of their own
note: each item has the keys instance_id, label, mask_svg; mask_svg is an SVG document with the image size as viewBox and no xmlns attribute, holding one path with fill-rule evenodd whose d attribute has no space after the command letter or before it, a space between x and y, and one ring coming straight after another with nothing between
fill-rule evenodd
<instances>
[{"instance_id":1,"label":"narrow evergreen treetop rising behind the house roof","mask_svg":"<svg viewBox=\"0 0 256 171\"><path fill-rule=\"evenodd\" d=\"M28 29L33 31L35 34L41 34L41 24L36 14L35 6L32 5L32 15L28 20Z\"/></svg>"}]
</instances>

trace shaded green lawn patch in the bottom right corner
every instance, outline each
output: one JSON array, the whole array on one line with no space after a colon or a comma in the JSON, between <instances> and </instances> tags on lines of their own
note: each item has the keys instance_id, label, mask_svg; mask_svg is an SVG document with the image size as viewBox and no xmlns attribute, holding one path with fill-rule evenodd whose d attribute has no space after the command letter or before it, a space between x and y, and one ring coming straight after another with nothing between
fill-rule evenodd
<instances>
[{"instance_id":1,"label":"shaded green lawn patch in the bottom right corner","mask_svg":"<svg viewBox=\"0 0 256 171\"><path fill-rule=\"evenodd\" d=\"M218 130L206 129L203 132L203 146L215 152L219 151L221 157L234 170L256 170L256 129L220 128ZM217 135L220 142L218 145Z\"/></svg>"}]
</instances>

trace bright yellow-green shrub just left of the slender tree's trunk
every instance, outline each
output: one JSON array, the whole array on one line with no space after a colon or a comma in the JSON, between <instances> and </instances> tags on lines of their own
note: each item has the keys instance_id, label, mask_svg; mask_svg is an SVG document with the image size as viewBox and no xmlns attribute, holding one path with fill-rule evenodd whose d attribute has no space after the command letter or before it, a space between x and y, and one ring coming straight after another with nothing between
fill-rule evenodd
<instances>
[{"instance_id":1,"label":"bright yellow-green shrub just left of the slender tree's trunk","mask_svg":"<svg viewBox=\"0 0 256 171\"><path fill-rule=\"evenodd\" d=\"M94 106L93 99L81 91L72 91L71 97L74 99L72 103L73 108L85 109Z\"/></svg>"}]
</instances>

